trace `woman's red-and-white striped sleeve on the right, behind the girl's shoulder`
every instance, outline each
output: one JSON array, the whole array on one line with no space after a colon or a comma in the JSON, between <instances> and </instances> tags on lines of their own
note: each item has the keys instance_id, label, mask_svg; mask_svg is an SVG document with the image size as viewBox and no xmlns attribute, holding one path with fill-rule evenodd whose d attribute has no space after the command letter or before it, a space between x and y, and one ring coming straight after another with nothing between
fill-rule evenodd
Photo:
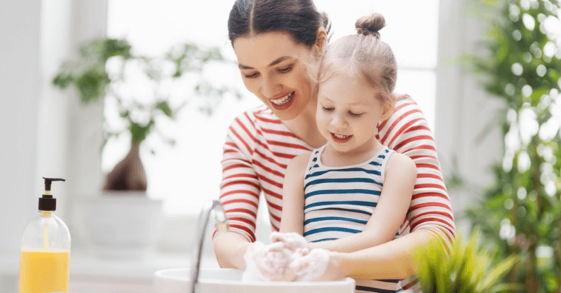
<instances>
[{"instance_id":1,"label":"woman's red-and-white striped sleeve on the right, behind the girl's shoulder","mask_svg":"<svg viewBox=\"0 0 561 293\"><path fill-rule=\"evenodd\" d=\"M407 223L400 232L405 235L431 231L450 249L456 236L454 216L440 172L433 133L419 105L412 97L401 96L391 117L378 125L378 131L382 144L409 156L417 165L417 181L407 211Z\"/></svg>"}]
</instances>

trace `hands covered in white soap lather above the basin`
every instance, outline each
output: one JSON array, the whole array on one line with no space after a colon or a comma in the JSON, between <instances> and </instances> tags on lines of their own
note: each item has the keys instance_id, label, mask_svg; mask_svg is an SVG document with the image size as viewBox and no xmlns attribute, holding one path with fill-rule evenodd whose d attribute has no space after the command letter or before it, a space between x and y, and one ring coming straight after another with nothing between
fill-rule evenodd
<instances>
[{"instance_id":1,"label":"hands covered in white soap lather above the basin","mask_svg":"<svg viewBox=\"0 0 561 293\"><path fill-rule=\"evenodd\" d=\"M243 281L313 281L323 277L330 265L332 252L311 249L298 233L273 232L270 239L270 245L257 241L245 252Z\"/></svg>"}]
</instances>

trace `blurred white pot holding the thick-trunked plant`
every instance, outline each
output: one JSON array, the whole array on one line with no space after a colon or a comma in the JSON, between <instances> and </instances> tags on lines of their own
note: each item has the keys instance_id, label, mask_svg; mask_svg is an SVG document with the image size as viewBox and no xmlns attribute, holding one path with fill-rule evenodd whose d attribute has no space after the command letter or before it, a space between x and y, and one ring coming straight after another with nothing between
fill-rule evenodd
<instances>
[{"instance_id":1,"label":"blurred white pot holding the thick-trunked plant","mask_svg":"<svg viewBox=\"0 0 561 293\"><path fill-rule=\"evenodd\" d=\"M104 191L79 209L83 238L97 256L142 258L156 245L162 200L143 191Z\"/></svg>"}]
</instances>

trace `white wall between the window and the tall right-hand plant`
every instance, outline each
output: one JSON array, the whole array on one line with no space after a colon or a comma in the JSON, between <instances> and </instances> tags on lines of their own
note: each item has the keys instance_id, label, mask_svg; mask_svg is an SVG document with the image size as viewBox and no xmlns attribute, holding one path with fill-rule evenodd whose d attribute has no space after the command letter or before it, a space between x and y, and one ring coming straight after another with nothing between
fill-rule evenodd
<instances>
[{"instance_id":1,"label":"white wall between the window and the tall right-hand plant","mask_svg":"<svg viewBox=\"0 0 561 293\"><path fill-rule=\"evenodd\" d=\"M473 74L459 67L459 57L478 49L486 26L471 15L466 7L470 1L440 1L438 34L438 66L436 91L436 137L438 158L445 177L453 171L457 160L459 175L469 189L450 189L450 200L458 230L468 229L461 215L475 203L476 191L492 182L490 165L501 161L501 133L494 129L482 142L478 135L495 117L501 102L488 97Z\"/></svg>"}]
</instances>

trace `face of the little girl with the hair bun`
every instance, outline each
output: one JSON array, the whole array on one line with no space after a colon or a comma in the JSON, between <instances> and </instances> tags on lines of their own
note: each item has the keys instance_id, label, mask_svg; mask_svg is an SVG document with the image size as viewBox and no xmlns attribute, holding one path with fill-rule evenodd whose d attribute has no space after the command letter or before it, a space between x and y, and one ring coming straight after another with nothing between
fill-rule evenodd
<instances>
[{"instance_id":1,"label":"face of the little girl with the hair bun","mask_svg":"<svg viewBox=\"0 0 561 293\"><path fill-rule=\"evenodd\" d=\"M384 107L374 94L358 77L344 72L321 83L316 123L334 150L359 155L377 146Z\"/></svg>"}]
</instances>

